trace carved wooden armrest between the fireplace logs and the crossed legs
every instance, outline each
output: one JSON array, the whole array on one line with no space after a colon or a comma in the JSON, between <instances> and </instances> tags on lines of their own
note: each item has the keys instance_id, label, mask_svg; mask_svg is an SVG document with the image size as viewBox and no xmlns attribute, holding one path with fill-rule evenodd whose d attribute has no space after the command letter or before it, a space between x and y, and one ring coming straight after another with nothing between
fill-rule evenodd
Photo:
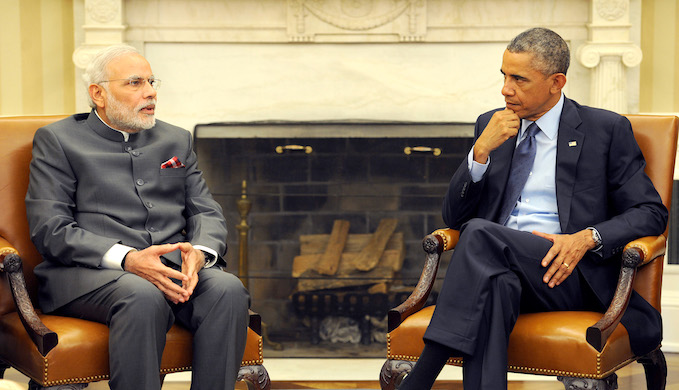
<instances>
[{"instance_id":1,"label":"carved wooden armrest between the fireplace logs and the crossed legs","mask_svg":"<svg viewBox=\"0 0 679 390\"><path fill-rule=\"evenodd\" d=\"M454 248L459 238L460 232L457 230L439 229L422 240L422 247L426 253L424 269L420 275L420 280L418 280L415 286L415 290L413 290L408 299L396 308L389 310L389 332L396 329L408 316L424 307L427 298L429 298L429 293L434 287L441 253Z\"/></svg>"}]
</instances>

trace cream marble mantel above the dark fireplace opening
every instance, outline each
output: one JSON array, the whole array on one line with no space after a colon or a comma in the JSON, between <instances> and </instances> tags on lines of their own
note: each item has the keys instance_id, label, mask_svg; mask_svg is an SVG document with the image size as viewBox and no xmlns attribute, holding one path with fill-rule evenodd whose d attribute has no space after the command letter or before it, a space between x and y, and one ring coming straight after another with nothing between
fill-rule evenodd
<instances>
[{"instance_id":1,"label":"cream marble mantel above the dark fireplace opening","mask_svg":"<svg viewBox=\"0 0 679 390\"><path fill-rule=\"evenodd\" d=\"M568 97L638 111L641 0L76 0L74 9L77 72L103 46L136 46L163 79L158 116L189 129L473 122L503 105L502 51L536 20L572 49Z\"/></svg>"}]
</instances>

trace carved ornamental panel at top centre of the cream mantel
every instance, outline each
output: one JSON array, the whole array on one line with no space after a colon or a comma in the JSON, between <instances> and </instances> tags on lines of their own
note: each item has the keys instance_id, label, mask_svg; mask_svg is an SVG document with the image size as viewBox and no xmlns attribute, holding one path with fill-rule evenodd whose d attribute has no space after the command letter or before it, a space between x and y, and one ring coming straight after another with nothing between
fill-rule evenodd
<instances>
[{"instance_id":1,"label":"carved ornamental panel at top centre of the cream mantel","mask_svg":"<svg viewBox=\"0 0 679 390\"><path fill-rule=\"evenodd\" d=\"M426 0L288 0L289 40L311 42L339 35L340 41L355 42L358 33L365 41L373 41L371 36L423 41L426 5Z\"/></svg>"}]
</instances>

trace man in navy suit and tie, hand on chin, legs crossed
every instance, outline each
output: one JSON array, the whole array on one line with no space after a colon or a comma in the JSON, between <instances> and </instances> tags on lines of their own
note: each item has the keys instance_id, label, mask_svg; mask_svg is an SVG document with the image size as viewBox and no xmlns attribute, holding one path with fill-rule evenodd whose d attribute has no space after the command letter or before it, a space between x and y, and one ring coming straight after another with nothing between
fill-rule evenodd
<instances>
[{"instance_id":1,"label":"man in navy suit and tie, hand on chin, legs crossed","mask_svg":"<svg viewBox=\"0 0 679 390\"><path fill-rule=\"evenodd\" d=\"M507 46L506 107L479 117L450 182L443 218L460 240L424 351L400 389L431 388L452 355L464 358L465 389L506 389L519 313L603 311L624 245L665 230L667 210L629 121L567 99L569 63L568 46L548 29ZM660 314L640 295L622 324L635 354L660 344Z\"/></svg>"}]
</instances>

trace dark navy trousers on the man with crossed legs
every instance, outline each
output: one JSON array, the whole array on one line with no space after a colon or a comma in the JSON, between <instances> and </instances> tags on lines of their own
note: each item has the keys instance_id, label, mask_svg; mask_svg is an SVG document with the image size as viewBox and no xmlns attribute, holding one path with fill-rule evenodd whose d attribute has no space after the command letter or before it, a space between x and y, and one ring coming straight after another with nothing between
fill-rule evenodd
<instances>
[{"instance_id":1,"label":"dark navy trousers on the man with crossed legs","mask_svg":"<svg viewBox=\"0 0 679 390\"><path fill-rule=\"evenodd\" d=\"M577 267L555 288L542 281L551 245L482 219L462 227L424 338L463 355L465 389L507 388L509 334L520 312L592 306Z\"/></svg>"}]
</instances>

